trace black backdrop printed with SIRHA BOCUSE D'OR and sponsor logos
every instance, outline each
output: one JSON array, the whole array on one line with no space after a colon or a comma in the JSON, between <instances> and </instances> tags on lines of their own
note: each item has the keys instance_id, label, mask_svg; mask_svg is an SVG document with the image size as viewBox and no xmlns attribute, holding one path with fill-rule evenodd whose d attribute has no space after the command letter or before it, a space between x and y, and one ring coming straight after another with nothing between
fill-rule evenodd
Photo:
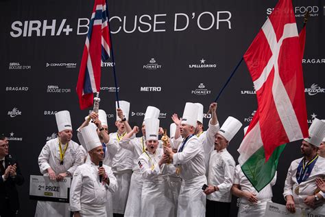
<instances>
[{"instance_id":1,"label":"black backdrop printed with SIRHA BOCUSE D'OR and sponsor logos","mask_svg":"<svg viewBox=\"0 0 325 217\"><path fill-rule=\"evenodd\" d=\"M119 97L131 102L131 125L142 123L148 105L160 109L165 128L173 113L182 115L185 102L200 102L206 112L276 2L109 1ZM93 1L86 0L0 1L0 131L10 138L10 153L19 159L26 179L19 187L21 216L34 215L29 175L40 174L40 150L57 136L54 113L69 110L76 129L89 112L80 111L75 85L92 9ZM299 31L302 14L311 12L302 62L310 124L315 117L324 119L325 4L293 0L293 10ZM112 60L102 66L100 107L115 131ZM247 126L254 111L256 95L243 62L219 99L219 122L232 115ZM242 138L241 130L228 148L236 160ZM300 141L289 144L280 157L273 188L277 203L284 203L287 168L300 157L299 147Z\"/></svg>"}]
</instances>

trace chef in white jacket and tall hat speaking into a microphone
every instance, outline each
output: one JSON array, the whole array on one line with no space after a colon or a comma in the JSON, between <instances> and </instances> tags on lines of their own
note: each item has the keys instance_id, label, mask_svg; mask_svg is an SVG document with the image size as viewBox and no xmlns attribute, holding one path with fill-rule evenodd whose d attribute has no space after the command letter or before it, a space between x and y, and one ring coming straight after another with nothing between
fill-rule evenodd
<instances>
[{"instance_id":1,"label":"chef in white jacket and tall hat speaking into a microphone","mask_svg":"<svg viewBox=\"0 0 325 217\"><path fill-rule=\"evenodd\" d=\"M117 180L111 168L102 164L104 149L96 129L86 126L81 133L91 160L78 166L73 174L70 209L75 217L106 217L107 194L116 192Z\"/></svg>"}]
</instances>

